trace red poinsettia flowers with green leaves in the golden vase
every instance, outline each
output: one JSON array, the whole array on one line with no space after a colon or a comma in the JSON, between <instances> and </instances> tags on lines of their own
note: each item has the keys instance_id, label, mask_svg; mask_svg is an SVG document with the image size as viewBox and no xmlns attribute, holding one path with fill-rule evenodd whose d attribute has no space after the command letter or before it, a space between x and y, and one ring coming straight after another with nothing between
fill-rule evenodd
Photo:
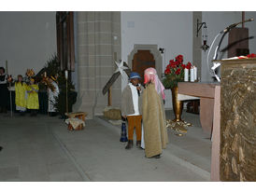
<instances>
[{"instance_id":1,"label":"red poinsettia flowers with green leaves in the golden vase","mask_svg":"<svg viewBox=\"0 0 256 192\"><path fill-rule=\"evenodd\" d=\"M178 82L184 81L184 69L191 69L192 63L183 63L183 55L178 55L175 60L170 60L164 70L163 85L165 89L178 86Z\"/></svg>"}]
</instances>

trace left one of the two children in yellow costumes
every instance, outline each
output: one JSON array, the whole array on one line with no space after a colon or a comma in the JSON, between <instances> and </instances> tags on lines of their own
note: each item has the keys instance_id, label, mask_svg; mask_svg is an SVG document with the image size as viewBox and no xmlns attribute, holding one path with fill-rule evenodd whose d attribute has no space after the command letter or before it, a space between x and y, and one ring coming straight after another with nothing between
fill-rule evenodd
<instances>
[{"instance_id":1,"label":"left one of the two children in yellow costumes","mask_svg":"<svg viewBox=\"0 0 256 192\"><path fill-rule=\"evenodd\" d=\"M27 84L22 81L22 75L18 75L18 81L15 82L15 104L16 110L20 112L21 116L25 115L26 111L26 89Z\"/></svg>"}]
</instances>

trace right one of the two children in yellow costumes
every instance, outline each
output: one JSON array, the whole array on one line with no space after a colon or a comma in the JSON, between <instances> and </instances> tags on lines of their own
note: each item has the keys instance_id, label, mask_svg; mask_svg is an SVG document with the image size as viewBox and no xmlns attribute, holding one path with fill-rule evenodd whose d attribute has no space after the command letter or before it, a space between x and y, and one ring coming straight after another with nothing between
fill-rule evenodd
<instances>
[{"instance_id":1,"label":"right one of the two children in yellow costumes","mask_svg":"<svg viewBox=\"0 0 256 192\"><path fill-rule=\"evenodd\" d=\"M38 86L35 84L35 79L30 79L30 85L27 86L27 108L31 110L31 116L36 116L37 110L39 109L38 101Z\"/></svg>"}]
</instances>

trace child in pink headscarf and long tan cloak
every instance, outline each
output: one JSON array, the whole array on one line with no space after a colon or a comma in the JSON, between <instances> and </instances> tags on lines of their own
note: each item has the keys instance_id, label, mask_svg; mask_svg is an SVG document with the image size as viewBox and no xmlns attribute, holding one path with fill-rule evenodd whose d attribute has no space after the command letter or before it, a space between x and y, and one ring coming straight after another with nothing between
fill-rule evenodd
<instances>
[{"instance_id":1,"label":"child in pink headscarf and long tan cloak","mask_svg":"<svg viewBox=\"0 0 256 192\"><path fill-rule=\"evenodd\" d=\"M160 158L168 143L164 113L164 86L156 70L144 72L146 89L143 92L143 128L146 158Z\"/></svg>"}]
</instances>

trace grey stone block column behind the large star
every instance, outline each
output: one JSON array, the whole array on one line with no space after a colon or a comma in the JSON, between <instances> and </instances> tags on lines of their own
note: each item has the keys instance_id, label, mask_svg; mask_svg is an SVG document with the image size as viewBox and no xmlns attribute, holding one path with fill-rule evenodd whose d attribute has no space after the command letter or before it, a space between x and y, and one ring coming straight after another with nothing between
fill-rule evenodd
<instances>
[{"instance_id":1,"label":"grey stone block column behind the large star","mask_svg":"<svg viewBox=\"0 0 256 192\"><path fill-rule=\"evenodd\" d=\"M102 89L121 59L121 12L77 12L78 18L78 101L76 111L101 115L107 106ZM121 77L112 87L112 104L121 103Z\"/></svg>"}]
</instances>

